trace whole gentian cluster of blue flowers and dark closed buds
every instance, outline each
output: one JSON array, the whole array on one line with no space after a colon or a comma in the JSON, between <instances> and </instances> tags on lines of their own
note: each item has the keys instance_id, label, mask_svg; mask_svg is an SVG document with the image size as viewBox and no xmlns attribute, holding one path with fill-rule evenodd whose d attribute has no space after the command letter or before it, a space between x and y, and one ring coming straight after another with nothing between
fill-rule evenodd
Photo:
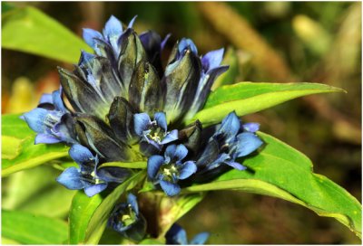
<instances>
[{"instance_id":1,"label":"whole gentian cluster of blue flowers and dark closed buds","mask_svg":"<svg viewBox=\"0 0 363 246\"><path fill-rule=\"evenodd\" d=\"M133 22L125 27L112 16L103 33L84 29L83 39L94 53L82 52L73 71L59 68L61 89L44 94L38 107L22 117L37 132L35 144L71 146L69 155L78 168L65 169L57 181L93 196L132 174L104 163L142 161L155 188L173 196L188 183L181 181L226 167L244 170L241 157L262 145L255 134L258 124L242 124L234 112L210 128L201 128L199 120L184 123L203 108L214 80L228 70L221 66L224 50L200 55L191 39L183 38L163 68L169 35L163 40L153 31L139 35ZM115 208L110 225L128 236L141 221L130 194ZM186 242L185 232L180 233L182 239L174 241Z\"/></svg>"}]
</instances>

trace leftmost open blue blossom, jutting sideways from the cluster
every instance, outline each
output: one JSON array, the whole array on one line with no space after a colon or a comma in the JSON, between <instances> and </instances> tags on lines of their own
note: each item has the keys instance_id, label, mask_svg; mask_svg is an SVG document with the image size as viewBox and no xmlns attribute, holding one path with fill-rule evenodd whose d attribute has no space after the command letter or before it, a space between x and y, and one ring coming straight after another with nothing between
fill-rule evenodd
<instances>
[{"instance_id":1,"label":"leftmost open blue blossom, jutting sideways from the cluster","mask_svg":"<svg viewBox=\"0 0 363 246\"><path fill-rule=\"evenodd\" d=\"M76 143L74 119L65 109L61 98L62 91L54 90L52 94L44 94L35 108L21 116L29 128L38 134L36 144L55 144L60 142Z\"/></svg>"}]
</instances>

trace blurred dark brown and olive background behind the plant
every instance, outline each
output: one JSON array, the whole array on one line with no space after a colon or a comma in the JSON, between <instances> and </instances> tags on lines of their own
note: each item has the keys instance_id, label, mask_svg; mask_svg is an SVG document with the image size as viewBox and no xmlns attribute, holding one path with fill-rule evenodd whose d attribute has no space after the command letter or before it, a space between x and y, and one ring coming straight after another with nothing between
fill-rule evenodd
<instances>
[{"instance_id":1,"label":"blurred dark brown and olive background behind the plant","mask_svg":"<svg viewBox=\"0 0 363 246\"><path fill-rule=\"evenodd\" d=\"M167 52L182 37L191 38L200 53L228 49L234 54L231 62L237 68L235 81L309 81L347 90L347 94L294 99L244 119L260 122L262 131L309 156L316 173L327 175L361 201L360 2L9 5L34 5L78 35L82 34L82 27L102 30L111 14L123 23L137 14L134 28L138 33L148 29L162 36L172 33ZM3 5L3 10L5 7L8 5ZM33 109L42 93L56 90L56 66L72 67L2 49L2 113ZM20 176L29 176L26 174ZM3 191L9 181L4 182ZM2 206L14 206L13 202L5 199ZM66 212L66 207L60 212L64 218ZM340 223L297 204L232 191L211 192L180 223L190 238L201 231L211 232L209 243L213 244L360 244Z\"/></svg>"}]
</instances>

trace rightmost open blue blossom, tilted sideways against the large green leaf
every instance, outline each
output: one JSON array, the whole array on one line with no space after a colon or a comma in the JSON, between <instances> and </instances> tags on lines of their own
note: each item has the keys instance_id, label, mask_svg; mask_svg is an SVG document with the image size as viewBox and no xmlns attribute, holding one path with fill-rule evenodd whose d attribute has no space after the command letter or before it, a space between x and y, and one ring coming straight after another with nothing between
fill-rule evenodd
<instances>
[{"instance_id":1,"label":"rightmost open blue blossom, tilted sideways against the large green leaf","mask_svg":"<svg viewBox=\"0 0 363 246\"><path fill-rule=\"evenodd\" d=\"M221 122L197 161L202 166L201 173L222 164L238 170L246 169L236 162L236 158L248 156L258 149L263 142L254 132L259 129L257 123L241 124L235 112L231 112Z\"/></svg>"}]
</instances>

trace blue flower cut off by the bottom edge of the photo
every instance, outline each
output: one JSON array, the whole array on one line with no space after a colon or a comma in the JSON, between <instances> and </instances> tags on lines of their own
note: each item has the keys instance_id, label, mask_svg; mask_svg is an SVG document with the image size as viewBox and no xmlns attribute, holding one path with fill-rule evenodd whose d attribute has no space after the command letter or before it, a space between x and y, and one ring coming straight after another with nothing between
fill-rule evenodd
<instances>
[{"instance_id":1,"label":"blue flower cut off by the bottom edge of the photo","mask_svg":"<svg viewBox=\"0 0 363 246\"><path fill-rule=\"evenodd\" d=\"M208 240L210 234L208 232L201 232L194 236L191 241L188 241L187 233L182 227L174 223L171 229L166 232L165 239L166 244L178 244L178 245L186 245L186 244L204 244L205 241Z\"/></svg>"}]
</instances>

